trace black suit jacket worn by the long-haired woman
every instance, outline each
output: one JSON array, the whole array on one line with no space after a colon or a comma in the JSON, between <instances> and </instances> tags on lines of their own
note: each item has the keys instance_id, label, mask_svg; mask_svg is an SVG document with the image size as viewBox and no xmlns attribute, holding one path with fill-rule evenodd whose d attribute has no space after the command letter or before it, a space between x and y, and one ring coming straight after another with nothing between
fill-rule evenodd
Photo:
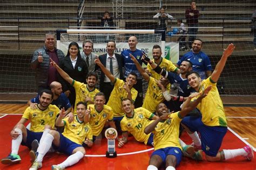
<instances>
[{"instance_id":1,"label":"black suit jacket worn by the long-haired woman","mask_svg":"<svg viewBox=\"0 0 256 170\"><path fill-rule=\"evenodd\" d=\"M64 70L67 74L69 74L69 76L72 79L79 81L81 83L86 83L88 67L82 58L77 57L75 69L73 68L73 65L71 63L71 59L69 56L66 56L64 59L60 60L59 67L62 70ZM60 75L59 75L59 81L62 84L63 92L71 89L72 86L66 80L64 80Z\"/></svg>"}]
</instances>

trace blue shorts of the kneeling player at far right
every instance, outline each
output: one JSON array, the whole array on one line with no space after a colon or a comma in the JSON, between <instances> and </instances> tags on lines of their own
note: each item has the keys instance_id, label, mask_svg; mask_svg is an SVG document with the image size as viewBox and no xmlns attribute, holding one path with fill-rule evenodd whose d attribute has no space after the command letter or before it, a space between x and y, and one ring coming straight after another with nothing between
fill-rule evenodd
<instances>
[{"instance_id":1,"label":"blue shorts of the kneeling player at far right","mask_svg":"<svg viewBox=\"0 0 256 170\"><path fill-rule=\"evenodd\" d=\"M186 125L192 132L199 132L201 137L202 149L206 155L216 157L219 148L227 133L227 127L206 126L202 117L185 117L181 123Z\"/></svg>"}]
</instances>

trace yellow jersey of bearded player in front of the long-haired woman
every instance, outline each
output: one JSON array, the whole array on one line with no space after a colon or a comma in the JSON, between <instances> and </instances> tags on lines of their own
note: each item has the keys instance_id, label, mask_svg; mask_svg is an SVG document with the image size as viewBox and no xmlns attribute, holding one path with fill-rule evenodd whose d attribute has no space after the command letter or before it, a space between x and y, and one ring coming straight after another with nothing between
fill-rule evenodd
<instances>
[{"instance_id":1,"label":"yellow jersey of bearded player in front of the long-haired woman","mask_svg":"<svg viewBox=\"0 0 256 170\"><path fill-rule=\"evenodd\" d=\"M95 88L92 91L89 91L87 89L86 84L80 83L79 81L76 81L76 80L73 80L71 85L75 88L75 91L76 91L76 102L74 107L74 114L77 114L77 103L79 101L85 101L86 96L89 96L94 103L95 94L98 93L99 90Z\"/></svg>"}]
</instances>

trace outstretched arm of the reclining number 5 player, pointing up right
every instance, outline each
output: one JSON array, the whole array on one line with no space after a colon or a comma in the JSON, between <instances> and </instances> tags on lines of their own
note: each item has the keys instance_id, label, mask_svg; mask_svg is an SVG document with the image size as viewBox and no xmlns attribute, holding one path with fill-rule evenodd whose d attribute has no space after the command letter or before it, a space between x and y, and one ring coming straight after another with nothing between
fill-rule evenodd
<instances>
[{"instance_id":1,"label":"outstretched arm of the reclining number 5 player, pointing up right","mask_svg":"<svg viewBox=\"0 0 256 170\"><path fill-rule=\"evenodd\" d=\"M189 112L191 112L194 108L196 108L197 105L201 102L201 100L207 96L207 94L210 92L211 89L212 89L212 86L208 86L201 94L199 94L199 93L190 94L190 96L183 103L183 107L181 108L181 111L179 112L181 117L182 118L185 117ZM198 95L200 95L200 96L196 100L191 102L191 99Z\"/></svg>"}]
</instances>

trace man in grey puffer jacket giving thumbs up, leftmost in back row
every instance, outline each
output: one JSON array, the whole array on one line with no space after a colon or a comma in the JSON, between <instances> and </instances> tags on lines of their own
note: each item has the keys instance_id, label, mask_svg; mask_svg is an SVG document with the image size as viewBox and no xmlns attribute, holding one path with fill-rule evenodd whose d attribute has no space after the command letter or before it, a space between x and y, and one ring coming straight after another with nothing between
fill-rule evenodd
<instances>
[{"instance_id":1,"label":"man in grey puffer jacket giving thumbs up, leftmost in back row","mask_svg":"<svg viewBox=\"0 0 256 170\"><path fill-rule=\"evenodd\" d=\"M38 87L38 94L43 89L50 89L49 85L52 81L57 81L57 71L54 67L50 66L50 58L56 63L59 63L60 59L65 55L61 50L55 47L55 35L54 33L45 34L45 45L37 49L32 56L31 67L36 70L36 85Z\"/></svg>"}]
</instances>

